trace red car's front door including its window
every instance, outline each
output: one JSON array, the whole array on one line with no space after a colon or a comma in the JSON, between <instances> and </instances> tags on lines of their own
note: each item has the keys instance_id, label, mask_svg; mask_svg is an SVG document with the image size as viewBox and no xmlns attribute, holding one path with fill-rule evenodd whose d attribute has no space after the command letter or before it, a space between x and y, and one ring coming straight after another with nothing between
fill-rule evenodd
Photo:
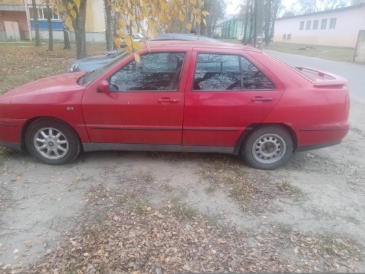
<instances>
[{"instance_id":1,"label":"red car's front door including its window","mask_svg":"<svg viewBox=\"0 0 365 274\"><path fill-rule=\"evenodd\" d=\"M191 49L145 51L105 73L110 92L90 85L82 109L92 143L181 145ZM185 71L185 72L184 72Z\"/></svg>"}]
</instances>

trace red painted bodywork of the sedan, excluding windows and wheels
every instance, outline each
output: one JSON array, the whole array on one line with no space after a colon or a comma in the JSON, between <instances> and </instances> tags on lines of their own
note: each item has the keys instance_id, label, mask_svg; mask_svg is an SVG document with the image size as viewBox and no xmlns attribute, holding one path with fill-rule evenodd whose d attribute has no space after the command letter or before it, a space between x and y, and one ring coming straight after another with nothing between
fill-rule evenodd
<instances>
[{"instance_id":1,"label":"red painted bodywork of the sedan, excluding windows and wheels","mask_svg":"<svg viewBox=\"0 0 365 274\"><path fill-rule=\"evenodd\" d=\"M186 52L177 92L105 92L103 81L130 62L131 56L87 88L76 82L84 73L40 79L0 97L0 142L21 142L23 125L40 116L65 121L84 143L234 147L247 126L278 123L291 127L297 145L303 146L338 142L349 131L347 86L316 85L251 47L184 41L149 42L149 46L152 52ZM242 55L276 88L192 91L199 52ZM140 52L144 53L147 49Z\"/></svg>"}]
</instances>

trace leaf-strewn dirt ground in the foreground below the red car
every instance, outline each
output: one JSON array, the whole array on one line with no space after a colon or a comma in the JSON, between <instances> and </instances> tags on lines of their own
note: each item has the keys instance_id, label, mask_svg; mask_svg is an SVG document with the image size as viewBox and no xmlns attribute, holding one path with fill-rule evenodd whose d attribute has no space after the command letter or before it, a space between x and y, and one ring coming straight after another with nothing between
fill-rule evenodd
<instances>
[{"instance_id":1,"label":"leaf-strewn dirt ground in the foreground below the red car","mask_svg":"<svg viewBox=\"0 0 365 274\"><path fill-rule=\"evenodd\" d=\"M0 273L364 272L364 116L352 101L341 145L275 171L227 155L120 151L47 166L0 148ZM164 248L144 244L160 234ZM137 247L144 264L123 257Z\"/></svg>"}]
</instances>

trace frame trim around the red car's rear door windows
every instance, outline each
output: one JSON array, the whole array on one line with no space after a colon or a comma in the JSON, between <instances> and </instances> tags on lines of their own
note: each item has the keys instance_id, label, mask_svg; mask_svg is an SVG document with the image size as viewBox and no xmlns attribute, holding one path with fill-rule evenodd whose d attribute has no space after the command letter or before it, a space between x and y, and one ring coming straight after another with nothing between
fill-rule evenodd
<instances>
[{"instance_id":1,"label":"frame trim around the red car's rear door windows","mask_svg":"<svg viewBox=\"0 0 365 274\"><path fill-rule=\"evenodd\" d=\"M198 63L198 55L199 53L202 54L216 54L216 55L235 55L238 56L238 64L240 64L240 79L241 79L241 88L243 88L243 75L242 75L242 70L241 70L241 58L246 59L247 61L249 61L251 64L253 64L253 66L255 66L255 68L260 71L270 82L271 84L273 84L275 86L275 88L260 88L260 89L255 89L255 90L194 90L194 78L195 78L195 72L197 71L197 63ZM194 72L192 75L192 83L191 83L191 88L190 88L190 92L249 92L249 91L274 91L277 90L277 86L275 84L275 82L273 82L273 80L268 77L268 75L266 75L266 73L264 73L261 69L259 69L256 64L254 62L252 62L251 60L249 60L249 58L247 58L246 56L242 55L242 54L238 54L238 53L222 53L222 52L209 52L209 51L197 51L197 58L195 58L195 64L194 64Z\"/></svg>"}]
</instances>

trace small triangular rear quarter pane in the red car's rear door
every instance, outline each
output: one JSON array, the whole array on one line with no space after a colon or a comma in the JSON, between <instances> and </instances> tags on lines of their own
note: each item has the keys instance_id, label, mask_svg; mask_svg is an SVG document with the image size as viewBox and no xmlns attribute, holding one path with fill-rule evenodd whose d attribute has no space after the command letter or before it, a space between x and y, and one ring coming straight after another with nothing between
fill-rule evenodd
<instances>
[{"instance_id":1,"label":"small triangular rear quarter pane in the red car's rear door","mask_svg":"<svg viewBox=\"0 0 365 274\"><path fill-rule=\"evenodd\" d=\"M275 85L257 67L244 57L241 58L244 90L273 90Z\"/></svg>"}]
</instances>

